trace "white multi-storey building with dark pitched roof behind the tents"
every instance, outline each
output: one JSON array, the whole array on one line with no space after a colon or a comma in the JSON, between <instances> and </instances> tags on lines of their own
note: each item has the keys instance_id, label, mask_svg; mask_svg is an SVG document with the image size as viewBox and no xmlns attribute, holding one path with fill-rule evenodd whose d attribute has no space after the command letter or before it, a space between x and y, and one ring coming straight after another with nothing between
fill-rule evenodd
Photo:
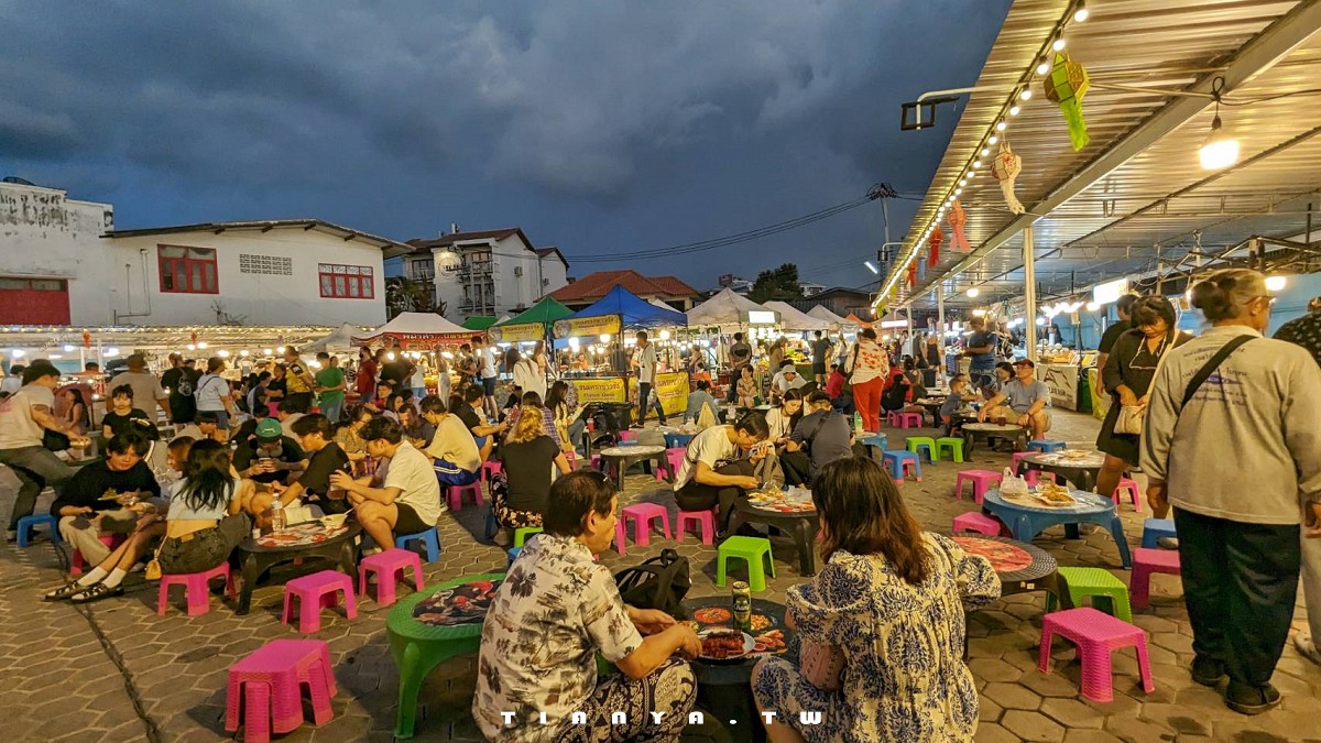
<instances>
[{"instance_id":1,"label":"white multi-storey building with dark pitched roof behind the tents","mask_svg":"<svg viewBox=\"0 0 1321 743\"><path fill-rule=\"evenodd\" d=\"M411 239L403 275L424 286L445 317L502 316L526 309L568 284L568 260L555 247L534 247L519 227L453 231Z\"/></svg>"}]
</instances>

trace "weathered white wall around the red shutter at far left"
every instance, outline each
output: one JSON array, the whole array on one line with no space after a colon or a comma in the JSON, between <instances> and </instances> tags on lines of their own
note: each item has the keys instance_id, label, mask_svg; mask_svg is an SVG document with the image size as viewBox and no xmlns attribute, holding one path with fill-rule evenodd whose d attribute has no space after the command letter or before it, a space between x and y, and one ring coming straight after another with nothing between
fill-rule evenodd
<instances>
[{"instance_id":1,"label":"weathered white wall around the red shutter at far left","mask_svg":"<svg viewBox=\"0 0 1321 743\"><path fill-rule=\"evenodd\" d=\"M69 279L70 321L108 325L100 234L112 227L108 204L74 201L53 188L0 182L0 276Z\"/></svg>"}]
</instances>

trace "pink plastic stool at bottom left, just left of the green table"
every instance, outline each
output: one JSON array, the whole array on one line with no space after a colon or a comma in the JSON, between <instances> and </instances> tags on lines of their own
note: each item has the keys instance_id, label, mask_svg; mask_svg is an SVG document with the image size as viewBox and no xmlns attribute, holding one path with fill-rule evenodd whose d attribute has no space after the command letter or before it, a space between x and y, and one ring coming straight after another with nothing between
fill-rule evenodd
<instances>
[{"instance_id":1,"label":"pink plastic stool at bottom left, just left of the green table","mask_svg":"<svg viewBox=\"0 0 1321 743\"><path fill-rule=\"evenodd\" d=\"M225 730L235 732L240 717L247 742L269 740L272 728L277 734L297 730L303 724L303 686L312 698L313 723L330 722L330 698L338 689L328 645L320 640L267 643L230 666Z\"/></svg>"}]
</instances>

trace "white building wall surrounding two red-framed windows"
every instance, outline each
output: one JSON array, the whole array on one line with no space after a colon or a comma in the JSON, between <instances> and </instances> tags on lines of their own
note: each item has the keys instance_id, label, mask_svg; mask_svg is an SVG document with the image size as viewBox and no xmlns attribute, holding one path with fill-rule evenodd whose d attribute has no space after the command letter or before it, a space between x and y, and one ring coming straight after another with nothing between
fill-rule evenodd
<instances>
[{"instance_id":1,"label":"white building wall surrounding two red-framed windows","mask_svg":"<svg viewBox=\"0 0 1321 743\"><path fill-rule=\"evenodd\" d=\"M218 321L215 304L246 325L379 325L386 321L383 255L380 249L363 242L295 226L268 233L227 230L221 234L194 231L122 237L107 238L102 243L112 267L106 290L123 323L210 325ZM214 249L219 293L161 292L160 245ZM292 275L240 272L240 254L289 258ZM374 299L322 297L320 263L370 266ZM125 264L129 266L128 279L124 276ZM144 270L149 303L144 295ZM124 320L125 313L139 316Z\"/></svg>"}]
</instances>

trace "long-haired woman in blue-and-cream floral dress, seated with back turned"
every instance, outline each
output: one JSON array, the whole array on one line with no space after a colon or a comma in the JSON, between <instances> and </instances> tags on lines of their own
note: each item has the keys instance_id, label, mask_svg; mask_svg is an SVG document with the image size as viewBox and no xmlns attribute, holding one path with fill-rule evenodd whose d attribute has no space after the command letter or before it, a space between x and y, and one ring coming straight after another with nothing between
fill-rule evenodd
<instances>
[{"instance_id":1,"label":"long-haired woman in blue-and-cream floral dress, seated with back turned","mask_svg":"<svg viewBox=\"0 0 1321 743\"><path fill-rule=\"evenodd\" d=\"M757 706L775 713L770 740L972 740L978 690L963 664L963 612L1000 598L991 563L922 531L869 459L827 465L812 501L827 565L789 590L786 620L804 645L843 652L843 678L824 691L783 658L757 664ZM818 724L799 718L814 711Z\"/></svg>"}]
</instances>

